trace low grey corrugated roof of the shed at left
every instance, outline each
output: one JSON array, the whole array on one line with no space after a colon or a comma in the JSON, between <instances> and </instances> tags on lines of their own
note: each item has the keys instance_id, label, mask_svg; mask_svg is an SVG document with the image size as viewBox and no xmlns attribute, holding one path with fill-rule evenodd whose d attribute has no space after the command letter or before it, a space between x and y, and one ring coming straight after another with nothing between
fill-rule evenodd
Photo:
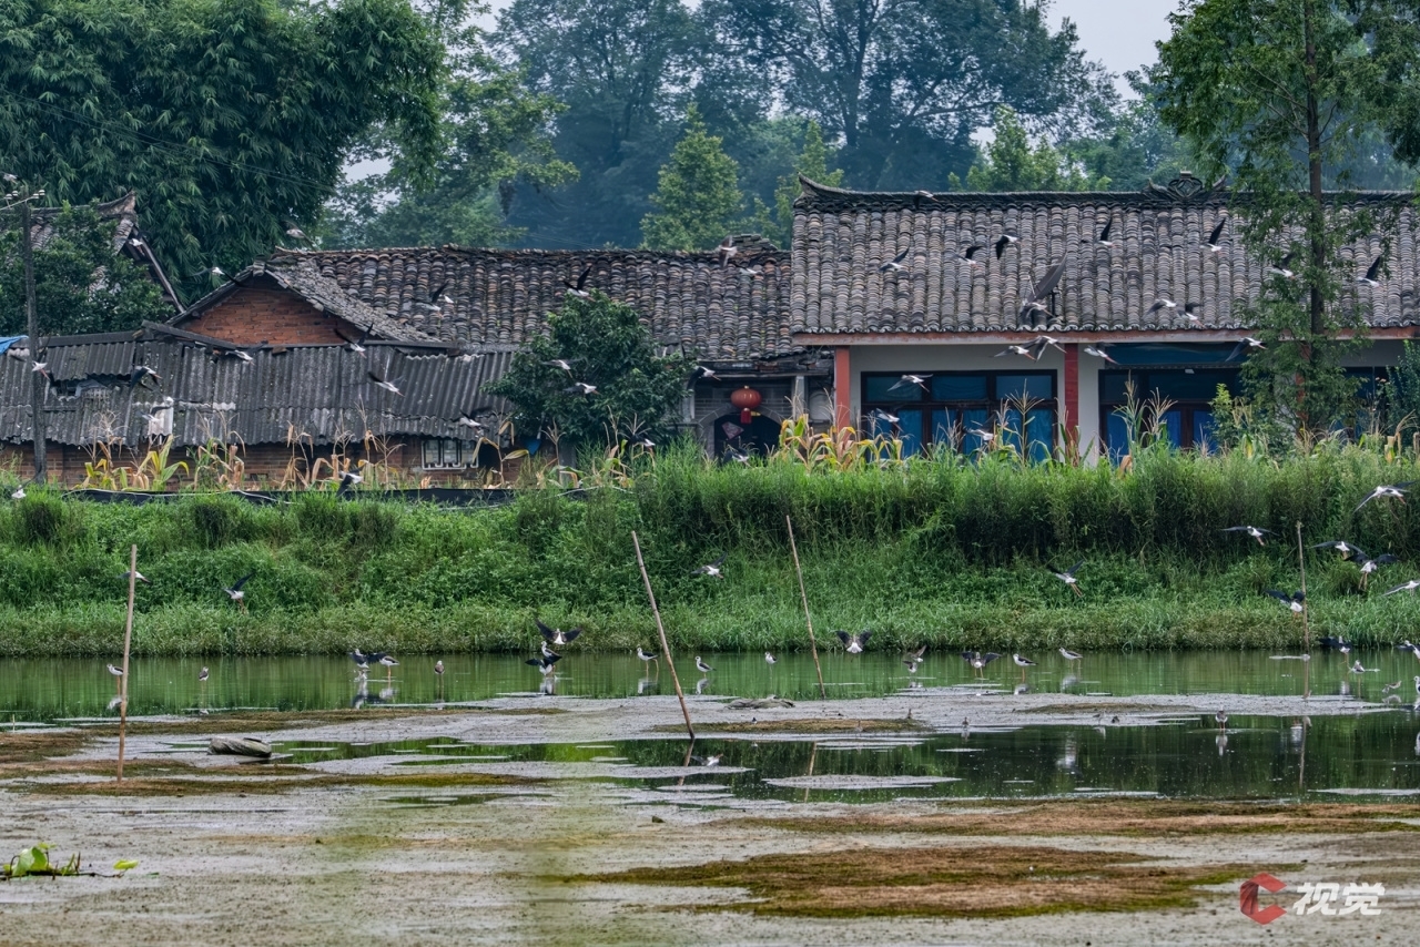
<instances>
[{"instance_id":1,"label":"low grey corrugated roof of the shed at left","mask_svg":"<svg viewBox=\"0 0 1420 947\"><path fill-rule=\"evenodd\" d=\"M173 399L175 443L240 437L247 444L285 443L291 432L315 444L376 436L469 439L459 417L490 419L507 405L481 392L507 371L508 346L452 356L440 346L371 344L368 355L344 345L246 349L250 363L213 358L236 346L190 332L152 327L141 332L48 341L53 383L45 389L48 439L84 446L118 439L148 442L152 415ZM162 382L131 386L138 365ZM403 395L375 388L369 371L399 379ZM0 356L0 440L31 439L30 365Z\"/></svg>"}]
</instances>

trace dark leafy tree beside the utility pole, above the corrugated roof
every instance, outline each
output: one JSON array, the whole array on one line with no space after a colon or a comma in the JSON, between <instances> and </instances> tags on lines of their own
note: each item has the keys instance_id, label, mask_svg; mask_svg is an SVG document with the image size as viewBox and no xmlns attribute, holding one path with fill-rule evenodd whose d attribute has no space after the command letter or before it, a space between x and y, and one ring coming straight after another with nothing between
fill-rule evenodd
<instances>
[{"instance_id":1,"label":"dark leafy tree beside the utility pole, above the corrugated roof","mask_svg":"<svg viewBox=\"0 0 1420 947\"><path fill-rule=\"evenodd\" d=\"M114 253L118 223L92 206L44 212L50 237L34 250L34 298L45 335L121 332L173 314L143 267ZM6 214L0 233L0 335L24 335L20 227Z\"/></svg>"}]
</instances>

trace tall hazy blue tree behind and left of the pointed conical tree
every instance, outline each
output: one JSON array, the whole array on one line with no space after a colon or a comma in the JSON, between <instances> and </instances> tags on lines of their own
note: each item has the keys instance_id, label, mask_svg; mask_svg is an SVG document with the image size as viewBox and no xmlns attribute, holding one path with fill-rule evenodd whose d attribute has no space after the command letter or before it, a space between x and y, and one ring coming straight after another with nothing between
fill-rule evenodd
<instances>
[{"instance_id":1,"label":"tall hazy blue tree behind and left of the pointed conical tree","mask_svg":"<svg viewBox=\"0 0 1420 947\"><path fill-rule=\"evenodd\" d=\"M528 89L567 105L554 143L578 170L557 193L520 186L511 221L550 246L635 246L693 81L690 13L680 0L514 0L491 41Z\"/></svg>"}]
</instances>

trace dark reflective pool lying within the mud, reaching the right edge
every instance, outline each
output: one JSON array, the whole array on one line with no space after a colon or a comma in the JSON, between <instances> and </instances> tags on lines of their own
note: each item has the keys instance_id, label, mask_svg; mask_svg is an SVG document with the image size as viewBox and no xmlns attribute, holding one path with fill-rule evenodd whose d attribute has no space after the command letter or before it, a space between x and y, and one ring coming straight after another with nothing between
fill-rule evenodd
<instances>
[{"instance_id":1,"label":"dark reflective pool lying within the mud, reaching the right edge","mask_svg":"<svg viewBox=\"0 0 1420 947\"><path fill-rule=\"evenodd\" d=\"M1021 727L932 737L768 741L701 737L598 744L278 744L293 762L389 757L392 765L592 765L636 802L733 805L736 799L883 802L896 798L1169 798L1379 801L1420 795L1420 741L1409 710L1316 717L1180 717L1153 727ZM581 765L572 765L581 764ZM538 794L538 789L530 789ZM396 797L406 805L484 802L493 795Z\"/></svg>"}]
</instances>

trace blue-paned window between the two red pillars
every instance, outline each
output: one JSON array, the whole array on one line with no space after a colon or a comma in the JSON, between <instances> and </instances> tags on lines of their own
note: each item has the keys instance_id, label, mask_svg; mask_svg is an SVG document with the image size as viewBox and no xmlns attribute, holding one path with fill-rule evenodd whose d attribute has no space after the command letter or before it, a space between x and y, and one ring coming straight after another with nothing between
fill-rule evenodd
<instances>
[{"instance_id":1,"label":"blue-paned window between the two red pillars","mask_svg":"<svg viewBox=\"0 0 1420 947\"><path fill-rule=\"evenodd\" d=\"M929 446L960 453L981 449L997 425L1005 443L1032 460L1047 460L1055 434L1055 372L919 372L923 385L899 385L902 375L863 375L863 415L873 434L897 436L905 454ZM1027 406L1022 422L1021 405ZM875 417L885 412L893 425ZM1024 442L1022 442L1024 439Z\"/></svg>"}]
</instances>

